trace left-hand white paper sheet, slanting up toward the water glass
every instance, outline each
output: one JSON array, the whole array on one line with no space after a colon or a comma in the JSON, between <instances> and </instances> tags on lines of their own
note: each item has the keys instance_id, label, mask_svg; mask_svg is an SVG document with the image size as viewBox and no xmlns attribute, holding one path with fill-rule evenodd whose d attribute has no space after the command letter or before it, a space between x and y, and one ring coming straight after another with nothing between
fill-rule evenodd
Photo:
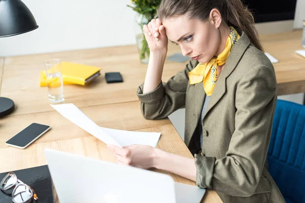
<instances>
[{"instance_id":1,"label":"left-hand white paper sheet, slanting up toward the water glass","mask_svg":"<svg viewBox=\"0 0 305 203\"><path fill-rule=\"evenodd\" d=\"M89 119L82 111L80 111L74 104L62 104L62 105L51 105L56 111L62 114L65 118L70 120L75 125L79 126L83 130L89 132L97 139L104 143L120 146L115 140L113 140L107 133L105 133L100 126Z\"/></svg>"}]
</instances>

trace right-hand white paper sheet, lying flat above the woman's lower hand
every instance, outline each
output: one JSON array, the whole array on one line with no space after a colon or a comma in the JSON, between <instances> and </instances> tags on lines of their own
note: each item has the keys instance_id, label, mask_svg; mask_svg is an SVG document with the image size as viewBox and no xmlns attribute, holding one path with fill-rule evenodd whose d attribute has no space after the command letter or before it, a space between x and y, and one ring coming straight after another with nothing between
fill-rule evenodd
<instances>
[{"instance_id":1,"label":"right-hand white paper sheet, lying flat above the woman's lower hand","mask_svg":"<svg viewBox=\"0 0 305 203\"><path fill-rule=\"evenodd\" d=\"M160 132L126 131L105 127L101 127L101 129L123 147L129 145L149 145L151 147L157 147L161 135Z\"/></svg>"}]
</instances>

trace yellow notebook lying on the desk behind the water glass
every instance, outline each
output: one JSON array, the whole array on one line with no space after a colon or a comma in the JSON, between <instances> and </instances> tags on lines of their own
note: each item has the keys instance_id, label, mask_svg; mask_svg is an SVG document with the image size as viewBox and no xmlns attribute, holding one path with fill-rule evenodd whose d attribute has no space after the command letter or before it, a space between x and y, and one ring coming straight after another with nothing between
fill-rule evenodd
<instances>
[{"instance_id":1,"label":"yellow notebook lying on the desk behind the water glass","mask_svg":"<svg viewBox=\"0 0 305 203\"><path fill-rule=\"evenodd\" d=\"M61 63L64 85L86 85L100 75L100 67L82 65L77 63ZM40 86L47 86L45 71L40 72Z\"/></svg>"}]
</instances>

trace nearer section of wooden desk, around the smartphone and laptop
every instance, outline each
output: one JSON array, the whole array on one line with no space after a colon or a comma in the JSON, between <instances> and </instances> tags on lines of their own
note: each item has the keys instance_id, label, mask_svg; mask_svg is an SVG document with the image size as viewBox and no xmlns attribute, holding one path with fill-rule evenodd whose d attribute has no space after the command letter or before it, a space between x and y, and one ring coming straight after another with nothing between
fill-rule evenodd
<instances>
[{"instance_id":1,"label":"nearer section of wooden desk, around the smartphone and laptop","mask_svg":"<svg viewBox=\"0 0 305 203\"><path fill-rule=\"evenodd\" d=\"M132 131L161 132L158 148L181 156L192 157L169 119L146 120L141 115L139 106L139 101L132 101L131 103L84 107L81 110L100 126ZM3 119L0 126L2 131L0 136L0 173L45 165L45 148L115 162L115 157L107 149L106 144L53 111L51 107L47 108L49 108L49 112L11 116ZM29 123L38 121L50 125L51 130L34 144L26 149L5 145L5 141L11 138L16 131L22 130ZM142 129L138 129L139 127ZM153 169L153 171L171 175L176 182L195 185L193 181L167 171L157 169ZM222 201L215 191L208 191L202 202Z\"/></svg>"}]
</instances>

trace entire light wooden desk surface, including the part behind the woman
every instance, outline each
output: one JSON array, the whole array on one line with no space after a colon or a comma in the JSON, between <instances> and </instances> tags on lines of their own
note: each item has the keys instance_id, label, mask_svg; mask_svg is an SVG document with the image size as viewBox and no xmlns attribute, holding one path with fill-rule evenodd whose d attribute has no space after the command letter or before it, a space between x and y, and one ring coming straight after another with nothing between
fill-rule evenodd
<instances>
[{"instance_id":1,"label":"entire light wooden desk surface, including the part behind the woman","mask_svg":"<svg viewBox=\"0 0 305 203\"><path fill-rule=\"evenodd\" d=\"M294 53L301 49L300 38L299 30L283 35L261 36L265 51L280 60L275 64L279 94L305 92L305 59ZM170 44L168 55L174 52L180 52L179 47ZM46 147L115 161L103 142L49 106L46 87L39 87L43 61L49 58L102 67L102 76L92 84L66 85L65 103L75 104L103 127L161 132L158 148L192 157L168 119L151 121L142 117L136 90L144 80L147 65L139 63L136 46L132 45L0 58L0 96L13 99L16 105L12 114L0 119L0 173L46 164L43 153ZM182 69L184 64L167 61L162 80L167 81ZM106 84L106 72L120 72L124 83ZM32 122L48 124L52 129L23 150L4 144ZM177 182L195 185L175 174L157 171L170 174ZM202 202L222 201L215 191L208 190Z\"/></svg>"}]
</instances>

